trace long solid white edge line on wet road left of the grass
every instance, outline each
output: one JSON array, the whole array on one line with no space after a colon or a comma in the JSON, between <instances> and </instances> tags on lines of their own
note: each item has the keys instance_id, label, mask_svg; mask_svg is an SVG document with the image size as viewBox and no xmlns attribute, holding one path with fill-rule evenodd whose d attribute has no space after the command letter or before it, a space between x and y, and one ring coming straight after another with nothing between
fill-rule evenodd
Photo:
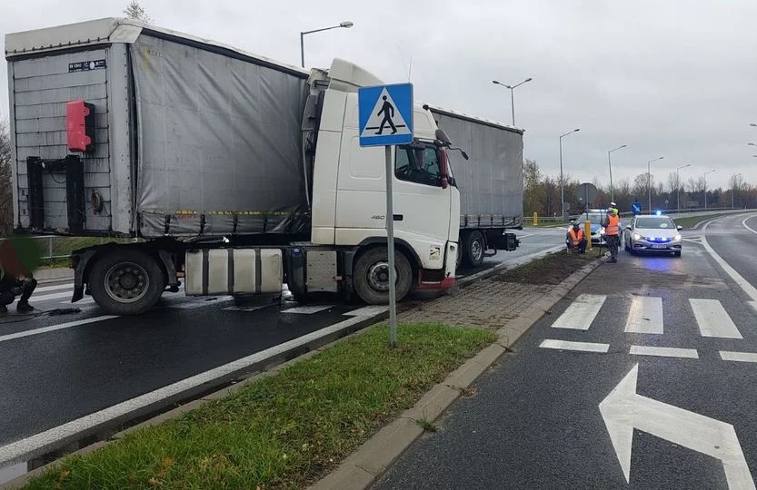
<instances>
[{"instance_id":1,"label":"long solid white edge line on wet road left of the grass","mask_svg":"<svg viewBox=\"0 0 757 490\"><path fill-rule=\"evenodd\" d=\"M41 448L46 448L45 450L49 449L48 446L54 445L57 441L76 436L85 430L105 424L116 417L124 417L129 413L134 412L134 410L148 407L168 397L174 397L175 395L179 395L194 387L210 383L219 377L224 377L225 375L249 368L267 358L272 358L294 348L298 348L308 342L333 334L344 328L352 327L353 325L364 321L364 319L369 318L370 317L353 317L351 319L345 319L344 321L340 321L330 327L321 328L320 330L316 330L303 337L294 338L293 340L289 340L288 342L284 342L283 344L279 344L272 348L266 348L252 356L237 359L218 368L194 375L193 377L184 378L181 381L155 389L154 391L146 393L140 397L134 397L88 416L45 430L45 432L35 434L35 436L29 436L2 446L0 447L0 466L4 466L8 463L15 463L32 455L35 451Z\"/></svg>"}]
</instances>

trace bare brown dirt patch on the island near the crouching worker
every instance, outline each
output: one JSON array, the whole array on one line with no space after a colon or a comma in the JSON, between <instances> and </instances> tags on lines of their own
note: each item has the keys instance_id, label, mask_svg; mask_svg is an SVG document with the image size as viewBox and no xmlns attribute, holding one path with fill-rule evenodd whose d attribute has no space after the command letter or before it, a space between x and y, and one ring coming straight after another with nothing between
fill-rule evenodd
<instances>
[{"instance_id":1,"label":"bare brown dirt patch on the island near the crouching worker","mask_svg":"<svg viewBox=\"0 0 757 490\"><path fill-rule=\"evenodd\" d=\"M550 284L557 285L567 279L573 272L599 258L596 251L580 253L565 253L559 251L547 255L543 259L533 260L513 270L505 270L492 280L497 282L515 282L520 284Z\"/></svg>"}]
</instances>

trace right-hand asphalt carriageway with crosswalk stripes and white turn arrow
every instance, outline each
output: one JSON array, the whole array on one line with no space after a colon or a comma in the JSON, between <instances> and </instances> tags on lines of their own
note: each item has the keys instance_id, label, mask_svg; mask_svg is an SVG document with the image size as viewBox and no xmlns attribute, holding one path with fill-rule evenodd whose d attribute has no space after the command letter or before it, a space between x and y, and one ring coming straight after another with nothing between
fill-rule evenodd
<instances>
[{"instance_id":1,"label":"right-hand asphalt carriageway with crosswalk stripes and white turn arrow","mask_svg":"<svg viewBox=\"0 0 757 490\"><path fill-rule=\"evenodd\" d=\"M753 281L745 217L706 232ZM600 266L375 488L754 488L757 310L701 233Z\"/></svg>"}]
</instances>

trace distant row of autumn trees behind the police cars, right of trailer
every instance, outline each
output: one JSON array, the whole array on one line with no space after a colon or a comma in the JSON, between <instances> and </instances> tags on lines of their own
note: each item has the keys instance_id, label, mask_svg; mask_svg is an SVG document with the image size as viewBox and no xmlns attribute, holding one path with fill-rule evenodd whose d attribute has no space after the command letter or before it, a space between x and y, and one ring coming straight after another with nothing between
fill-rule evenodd
<instances>
[{"instance_id":1,"label":"distant row of autumn trees behind the police cars, right of trailer","mask_svg":"<svg viewBox=\"0 0 757 490\"><path fill-rule=\"evenodd\" d=\"M652 173L648 179L646 172L640 173L632 181L628 178L613 181L613 195L610 185L596 177L591 183L597 188L596 199L589 202L589 208L607 208L611 201L617 203L621 212L631 211L633 202L642 203L642 209L649 207L649 191L652 191L652 210L675 210L680 199L681 209L703 208L705 195L708 208L757 207L757 186L743 180L739 174L729 178L729 187L713 189L704 176L684 180L675 171L664 180L658 180ZM540 216L560 216L560 176L543 173L537 162L526 160L523 164L523 212ZM583 196L578 196L581 183L563 173L563 192L570 214L578 214L586 208Z\"/></svg>"}]
</instances>

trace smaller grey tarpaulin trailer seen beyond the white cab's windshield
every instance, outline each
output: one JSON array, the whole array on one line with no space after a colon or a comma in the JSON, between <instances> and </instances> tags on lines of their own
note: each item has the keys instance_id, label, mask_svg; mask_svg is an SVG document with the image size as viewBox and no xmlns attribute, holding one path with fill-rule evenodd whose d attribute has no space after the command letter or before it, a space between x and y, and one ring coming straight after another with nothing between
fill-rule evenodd
<instances>
[{"instance_id":1,"label":"smaller grey tarpaulin trailer seen beyond the white cab's windshield","mask_svg":"<svg viewBox=\"0 0 757 490\"><path fill-rule=\"evenodd\" d=\"M480 265L489 248L518 246L507 229L523 228L523 130L441 107L428 106L455 146L450 152L453 177L460 190L458 257Z\"/></svg>"}]
</instances>

